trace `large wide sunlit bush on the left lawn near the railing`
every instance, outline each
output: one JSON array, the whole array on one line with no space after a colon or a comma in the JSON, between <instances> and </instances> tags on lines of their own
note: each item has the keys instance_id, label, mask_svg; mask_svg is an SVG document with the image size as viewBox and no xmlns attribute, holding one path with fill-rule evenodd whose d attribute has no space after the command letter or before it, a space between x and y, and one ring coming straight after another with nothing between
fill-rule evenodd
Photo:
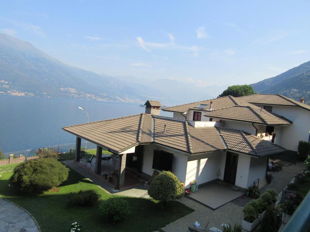
<instances>
[{"instance_id":1,"label":"large wide sunlit bush on the left lawn near the railing","mask_svg":"<svg viewBox=\"0 0 310 232\"><path fill-rule=\"evenodd\" d=\"M28 160L14 168L10 184L20 193L38 194L59 186L68 174L69 168L53 158Z\"/></svg>"}]
</instances>

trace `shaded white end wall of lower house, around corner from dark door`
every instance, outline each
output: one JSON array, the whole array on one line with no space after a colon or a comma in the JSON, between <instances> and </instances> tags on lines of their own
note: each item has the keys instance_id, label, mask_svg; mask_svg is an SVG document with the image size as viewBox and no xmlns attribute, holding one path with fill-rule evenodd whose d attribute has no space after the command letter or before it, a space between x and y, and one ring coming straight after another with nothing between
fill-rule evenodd
<instances>
[{"instance_id":1,"label":"shaded white end wall of lower house, around corner from dark door","mask_svg":"<svg viewBox=\"0 0 310 232\"><path fill-rule=\"evenodd\" d=\"M247 186L253 184L255 180L259 178L259 188L263 187L266 183L266 171L267 171L268 157L255 158L251 157L250 171Z\"/></svg>"}]
</instances>

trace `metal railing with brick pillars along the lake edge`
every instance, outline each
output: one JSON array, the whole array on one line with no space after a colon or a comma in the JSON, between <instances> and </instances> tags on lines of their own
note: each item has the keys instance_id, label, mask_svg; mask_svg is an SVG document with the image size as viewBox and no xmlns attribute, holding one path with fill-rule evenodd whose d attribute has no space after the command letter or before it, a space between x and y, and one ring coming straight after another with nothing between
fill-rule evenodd
<instances>
[{"instance_id":1,"label":"metal railing with brick pillars along the lake edge","mask_svg":"<svg viewBox=\"0 0 310 232\"><path fill-rule=\"evenodd\" d=\"M86 148L86 142L81 143L81 150L85 150L85 148ZM96 148L97 148L96 144L87 142L87 148L86 148L87 150ZM70 151L75 151L75 143L3 153L0 155L0 166L11 163L20 163L23 161L27 161L29 159L37 159L40 157L44 157L48 154L69 153Z\"/></svg>"}]
</instances>

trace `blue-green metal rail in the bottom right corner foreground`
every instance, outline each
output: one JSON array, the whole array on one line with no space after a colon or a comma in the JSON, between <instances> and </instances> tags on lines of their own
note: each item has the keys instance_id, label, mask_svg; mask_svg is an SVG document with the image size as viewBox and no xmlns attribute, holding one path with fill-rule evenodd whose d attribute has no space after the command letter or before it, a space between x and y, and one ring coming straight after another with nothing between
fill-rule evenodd
<instances>
[{"instance_id":1,"label":"blue-green metal rail in the bottom right corner foreground","mask_svg":"<svg viewBox=\"0 0 310 232\"><path fill-rule=\"evenodd\" d=\"M286 223L282 232L304 232L310 228L310 191Z\"/></svg>"}]
</instances>

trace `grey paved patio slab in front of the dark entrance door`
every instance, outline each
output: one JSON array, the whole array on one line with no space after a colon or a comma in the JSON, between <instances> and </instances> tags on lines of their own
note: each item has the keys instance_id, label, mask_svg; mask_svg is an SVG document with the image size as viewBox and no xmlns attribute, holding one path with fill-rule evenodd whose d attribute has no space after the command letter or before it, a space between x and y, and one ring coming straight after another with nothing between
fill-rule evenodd
<instances>
[{"instance_id":1,"label":"grey paved patio slab in front of the dark entrance door","mask_svg":"<svg viewBox=\"0 0 310 232\"><path fill-rule=\"evenodd\" d=\"M188 197L211 209L217 209L244 194L245 191L234 190L219 183L211 183L198 188L197 192L191 192Z\"/></svg>"}]
</instances>

